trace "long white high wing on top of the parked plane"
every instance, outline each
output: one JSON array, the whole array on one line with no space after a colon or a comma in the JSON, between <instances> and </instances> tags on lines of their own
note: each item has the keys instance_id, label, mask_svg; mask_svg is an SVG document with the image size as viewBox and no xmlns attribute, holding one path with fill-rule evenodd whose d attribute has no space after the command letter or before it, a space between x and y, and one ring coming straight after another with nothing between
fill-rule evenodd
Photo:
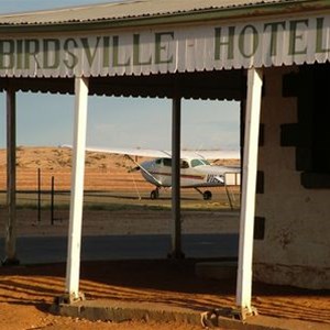
<instances>
[{"instance_id":1,"label":"long white high wing on top of the parked plane","mask_svg":"<svg viewBox=\"0 0 330 330\"><path fill-rule=\"evenodd\" d=\"M72 147L69 145L64 145ZM170 151L152 150L152 148L125 148L125 147L99 147L99 146L87 146L86 151L99 152L99 153L110 153L118 155L129 155L129 156L141 156L151 158L170 158ZM240 151L232 150L219 150L219 151L182 151L182 158L205 158L205 160L239 160Z\"/></svg>"}]
</instances>

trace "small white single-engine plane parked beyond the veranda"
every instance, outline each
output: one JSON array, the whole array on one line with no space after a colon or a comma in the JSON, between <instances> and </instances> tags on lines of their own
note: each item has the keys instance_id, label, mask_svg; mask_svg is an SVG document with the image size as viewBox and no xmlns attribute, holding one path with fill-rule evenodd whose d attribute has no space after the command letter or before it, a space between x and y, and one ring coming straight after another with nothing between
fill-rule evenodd
<instances>
[{"instance_id":1,"label":"small white single-engine plane parked beyond the veranda","mask_svg":"<svg viewBox=\"0 0 330 330\"><path fill-rule=\"evenodd\" d=\"M135 164L143 178L155 186L151 191L151 199L160 197L160 189L172 186L172 153L167 151L144 148L101 148L86 147L86 151L121 154ZM138 163L134 156L154 158ZM180 152L180 187L195 188L205 200L212 199L210 190L201 191L200 188L218 187L226 185L226 174L240 173L237 166L211 165L207 160L239 160L238 151L182 151Z\"/></svg>"}]
</instances>

